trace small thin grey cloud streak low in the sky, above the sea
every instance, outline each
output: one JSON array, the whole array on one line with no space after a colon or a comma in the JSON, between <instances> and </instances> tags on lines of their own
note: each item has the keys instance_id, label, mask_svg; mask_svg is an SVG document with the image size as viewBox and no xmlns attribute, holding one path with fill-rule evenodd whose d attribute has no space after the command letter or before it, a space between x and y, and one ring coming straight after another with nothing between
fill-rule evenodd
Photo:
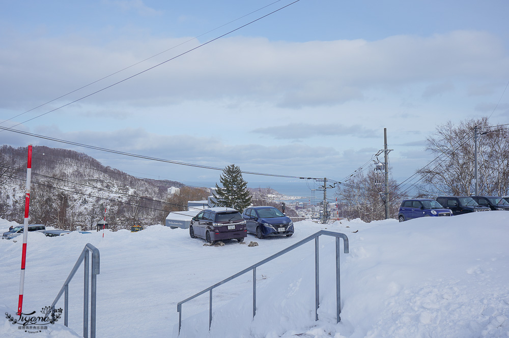
<instances>
[{"instance_id":1,"label":"small thin grey cloud streak low in the sky, above the sea","mask_svg":"<svg viewBox=\"0 0 509 338\"><path fill-rule=\"evenodd\" d=\"M376 137L377 131L360 125L344 126L338 124L288 124L257 128L253 133L271 136L275 139L305 139L323 136L354 136L361 138Z\"/></svg>"}]
</instances>

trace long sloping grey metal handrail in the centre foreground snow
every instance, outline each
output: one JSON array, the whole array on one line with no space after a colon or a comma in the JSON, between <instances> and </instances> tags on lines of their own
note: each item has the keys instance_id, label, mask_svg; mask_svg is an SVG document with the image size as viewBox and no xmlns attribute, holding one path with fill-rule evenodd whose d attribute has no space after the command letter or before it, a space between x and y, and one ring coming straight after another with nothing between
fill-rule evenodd
<instances>
[{"instance_id":1,"label":"long sloping grey metal handrail in the centre foreground snow","mask_svg":"<svg viewBox=\"0 0 509 338\"><path fill-rule=\"evenodd\" d=\"M308 241L310 241L312 239L315 239L315 320L318 320L318 306L319 306L319 296L320 296L319 273L318 273L319 272L318 237L320 237L321 235L336 237L336 319L337 319L337 323L339 323L341 321L341 317L340 317L340 314L341 314L340 238L343 238L344 253L348 254L348 252L349 252L348 237L343 233L320 230L319 232L317 232L309 237L306 237L293 245L290 245L290 247L286 248L285 250L281 250L280 252L278 252L278 253L276 253L276 254L274 254L274 255L272 255L272 256L270 256L256 264L253 264L248 268L245 268L244 270L230 276L229 278L222 280L221 282L216 283L216 284L212 285L211 287L208 287L207 289L200 291L199 293L196 293L195 295L192 295L191 297L178 302L177 303L177 312L179 313L179 335L180 335L180 328L182 326L182 304L183 303L185 303L191 299L194 299L198 296L201 296L208 291L209 292L209 330L210 330L210 325L212 323L212 289L217 288L218 286L220 286L224 283L227 283L227 282L237 278L238 276L240 276L250 270L253 271L253 318L254 318L254 315L256 315L256 268L262 264L265 264L265 263L273 260L274 258L277 258L281 255L286 254L287 252L289 252L295 248L300 247L300 245L307 243Z\"/></svg>"}]
</instances>

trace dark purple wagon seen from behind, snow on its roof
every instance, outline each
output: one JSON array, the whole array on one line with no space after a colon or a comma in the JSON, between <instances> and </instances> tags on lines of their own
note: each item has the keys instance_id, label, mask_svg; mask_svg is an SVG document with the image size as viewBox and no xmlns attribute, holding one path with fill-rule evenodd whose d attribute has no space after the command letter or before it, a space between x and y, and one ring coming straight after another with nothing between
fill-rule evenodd
<instances>
[{"instance_id":1,"label":"dark purple wagon seen from behind, snow on its roof","mask_svg":"<svg viewBox=\"0 0 509 338\"><path fill-rule=\"evenodd\" d=\"M189 235L191 238L203 238L209 243L229 239L237 239L242 242L247 237L246 221L235 209L209 208L192 218Z\"/></svg>"}]
</instances>

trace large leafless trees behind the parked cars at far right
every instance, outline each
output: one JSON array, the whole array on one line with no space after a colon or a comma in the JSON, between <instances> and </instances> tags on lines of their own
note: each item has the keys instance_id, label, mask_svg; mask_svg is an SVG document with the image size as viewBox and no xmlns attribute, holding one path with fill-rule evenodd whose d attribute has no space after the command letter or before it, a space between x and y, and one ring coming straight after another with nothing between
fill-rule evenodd
<instances>
[{"instance_id":1,"label":"large leafless trees behind the parked cars at far right","mask_svg":"<svg viewBox=\"0 0 509 338\"><path fill-rule=\"evenodd\" d=\"M428 137L436 160L417 172L421 195L472 195L475 190L474 128L478 127L477 172L480 195L506 195L509 183L509 131L490 127L487 117L448 121Z\"/></svg>"}]
</instances>

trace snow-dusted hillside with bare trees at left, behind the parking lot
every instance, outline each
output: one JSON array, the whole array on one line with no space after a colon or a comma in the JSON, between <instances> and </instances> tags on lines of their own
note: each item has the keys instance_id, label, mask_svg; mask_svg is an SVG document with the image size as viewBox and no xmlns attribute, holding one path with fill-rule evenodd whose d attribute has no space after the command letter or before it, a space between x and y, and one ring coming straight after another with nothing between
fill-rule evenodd
<instances>
[{"instance_id":1,"label":"snow-dusted hillside with bare trees at left, behind the parking lot","mask_svg":"<svg viewBox=\"0 0 509 338\"><path fill-rule=\"evenodd\" d=\"M0 218L23 223L27 148L0 147ZM73 230L91 229L104 218L114 229L164 224L176 181L136 178L105 167L85 153L33 147L30 223ZM189 188L193 190L193 188ZM208 192L199 190L200 196Z\"/></svg>"}]
</instances>

